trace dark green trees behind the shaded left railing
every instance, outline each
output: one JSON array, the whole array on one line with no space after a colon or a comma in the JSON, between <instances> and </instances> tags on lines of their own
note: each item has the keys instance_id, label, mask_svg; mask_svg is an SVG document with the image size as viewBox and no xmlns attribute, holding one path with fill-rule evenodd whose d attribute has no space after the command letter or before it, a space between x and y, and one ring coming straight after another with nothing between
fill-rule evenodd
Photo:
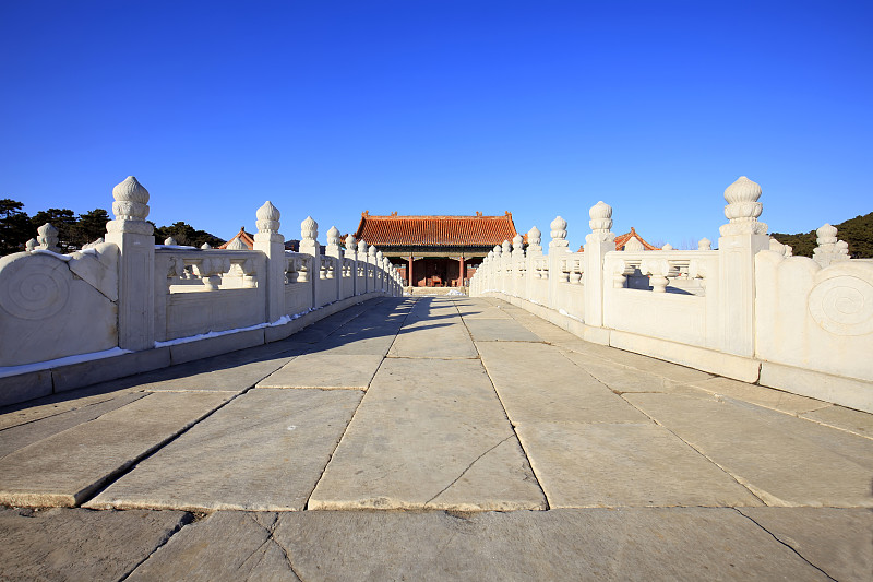
<instances>
[{"instance_id":1,"label":"dark green trees behind the shaded left railing","mask_svg":"<svg viewBox=\"0 0 873 582\"><path fill-rule=\"evenodd\" d=\"M107 222L109 213L104 209L94 209L79 215L70 209L48 209L28 216L22 202L9 198L0 199L0 256L23 251L25 244L36 238L36 229L46 223L51 223L58 229L58 247L61 252L72 252L103 237ZM175 238L179 245L193 247L200 247L204 242L217 247L224 242L220 238L183 222L155 227L155 241L158 245L163 245L167 237Z\"/></svg>"}]
</instances>

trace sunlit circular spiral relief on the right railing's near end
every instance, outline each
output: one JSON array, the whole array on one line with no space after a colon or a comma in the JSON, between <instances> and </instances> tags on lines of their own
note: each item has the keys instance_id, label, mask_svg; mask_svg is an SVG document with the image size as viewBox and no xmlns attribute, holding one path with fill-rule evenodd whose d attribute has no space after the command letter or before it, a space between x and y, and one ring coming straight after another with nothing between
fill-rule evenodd
<instances>
[{"instance_id":1,"label":"sunlit circular spiral relief on the right railing's near end","mask_svg":"<svg viewBox=\"0 0 873 582\"><path fill-rule=\"evenodd\" d=\"M837 335L873 332L873 285L840 275L818 283L810 292L810 313L825 331Z\"/></svg>"}]
</instances>

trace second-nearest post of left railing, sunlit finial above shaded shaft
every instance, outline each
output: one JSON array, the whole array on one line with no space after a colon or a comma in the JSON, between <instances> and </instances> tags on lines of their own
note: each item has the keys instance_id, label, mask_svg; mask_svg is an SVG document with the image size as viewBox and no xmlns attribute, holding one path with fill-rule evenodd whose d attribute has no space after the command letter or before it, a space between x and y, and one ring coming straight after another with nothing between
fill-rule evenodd
<instances>
[{"instance_id":1,"label":"second-nearest post of left railing, sunlit finial above shaded shaft","mask_svg":"<svg viewBox=\"0 0 873 582\"><path fill-rule=\"evenodd\" d=\"M285 237L279 234L278 209L268 200L255 213L258 233L254 234L254 250L266 257L266 282L264 284L265 313L267 323L285 316Z\"/></svg>"}]
</instances>

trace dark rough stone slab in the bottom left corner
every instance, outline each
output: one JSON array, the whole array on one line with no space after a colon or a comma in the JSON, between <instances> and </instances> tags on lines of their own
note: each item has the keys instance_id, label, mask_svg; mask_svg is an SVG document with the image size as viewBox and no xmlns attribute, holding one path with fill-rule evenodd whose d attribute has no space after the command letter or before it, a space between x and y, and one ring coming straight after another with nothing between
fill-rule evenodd
<instances>
[{"instance_id":1,"label":"dark rough stone slab in the bottom left corner","mask_svg":"<svg viewBox=\"0 0 873 582\"><path fill-rule=\"evenodd\" d=\"M0 509L0 580L121 580L188 521L181 511Z\"/></svg>"}]
</instances>

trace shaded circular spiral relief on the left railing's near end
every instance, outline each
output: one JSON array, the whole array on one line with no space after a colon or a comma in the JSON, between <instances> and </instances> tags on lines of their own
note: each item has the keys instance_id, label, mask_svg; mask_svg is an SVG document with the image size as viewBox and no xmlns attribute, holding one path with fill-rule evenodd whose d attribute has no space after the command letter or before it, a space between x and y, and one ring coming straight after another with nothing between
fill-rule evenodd
<instances>
[{"instance_id":1,"label":"shaded circular spiral relief on the left railing's near end","mask_svg":"<svg viewBox=\"0 0 873 582\"><path fill-rule=\"evenodd\" d=\"M46 319L59 312L70 297L70 282L56 268L57 260L36 257L7 265L0 277L0 306L20 319Z\"/></svg>"}]
</instances>

